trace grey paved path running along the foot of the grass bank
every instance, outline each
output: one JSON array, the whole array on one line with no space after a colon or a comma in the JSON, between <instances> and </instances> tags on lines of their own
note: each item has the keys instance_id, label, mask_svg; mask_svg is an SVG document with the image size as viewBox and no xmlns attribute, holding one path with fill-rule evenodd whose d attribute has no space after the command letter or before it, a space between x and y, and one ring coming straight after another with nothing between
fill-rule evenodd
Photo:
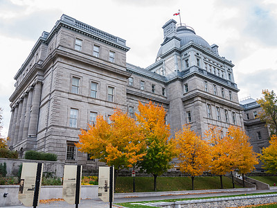
<instances>
[{"instance_id":1,"label":"grey paved path running along the foot of the grass bank","mask_svg":"<svg viewBox=\"0 0 277 208\"><path fill-rule=\"evenodd\" d=\"M165 200L176 198L201 198L207 196L232 196L244 193L267 193L277 191L275 190L253 190L253 189L222 189L222 190L201 190L201 191L168 191L168 192L150 192L150 193L116 193L114 196L114 203L119 202L140 202L148 200ZM9 208L24 208L25 206L10 206ZM51 202L48 204L39 204L42 208L75 208L75 205L69 205L64 201ZM100 199L81 200L80 208L109 208L108 202L102 202ZM113 206L114 208L116 207Z\"/></svg>"}]
</instances>

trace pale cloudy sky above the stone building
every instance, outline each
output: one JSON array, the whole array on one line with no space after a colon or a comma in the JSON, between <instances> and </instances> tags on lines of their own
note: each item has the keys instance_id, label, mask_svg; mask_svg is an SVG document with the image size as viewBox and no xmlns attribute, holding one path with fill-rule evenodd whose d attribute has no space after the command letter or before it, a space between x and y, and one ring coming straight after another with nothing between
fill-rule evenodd
<instances>
[{"instance_id":1,"label":"pale cloudy sky above the stone building","mask_svg":"<svg viewBox=\"0 0 277 208\"><path fill-rule=\"evenodd\" d=\"M127 62L147 67L163 42L162 26L181 10L181 21L195 29L221 56L232 60L239 98L277 92L276 0L0 0L0 107L7 135L13 77L43 31L62 14L127 40Z\"/></svg>"}]
</instances>

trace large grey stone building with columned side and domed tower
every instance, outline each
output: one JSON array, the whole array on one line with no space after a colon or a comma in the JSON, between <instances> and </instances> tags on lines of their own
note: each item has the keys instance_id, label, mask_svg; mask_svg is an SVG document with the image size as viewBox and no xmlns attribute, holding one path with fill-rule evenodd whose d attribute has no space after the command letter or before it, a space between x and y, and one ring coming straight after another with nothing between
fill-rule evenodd
<instances>
[{"instance_id":1,"label":"large grey stone building with columned side and domed tower","mask_svg":"<svg viewBox=\"0 0 277 208\"><path fill-rule=\"evenodd\" d=\"M157 59L142 69L126 63L125 40L62 15L15 75L10 148L94 165L74 146L80 128L98 114L109 120L115 107L134 117L139 101L149 100L166 108L172 135L185 123L199 135L211 124L222 134L230 124L243 126L234 64L189 26L170 19L162 29Z\"/></svg>"}]
</instances>

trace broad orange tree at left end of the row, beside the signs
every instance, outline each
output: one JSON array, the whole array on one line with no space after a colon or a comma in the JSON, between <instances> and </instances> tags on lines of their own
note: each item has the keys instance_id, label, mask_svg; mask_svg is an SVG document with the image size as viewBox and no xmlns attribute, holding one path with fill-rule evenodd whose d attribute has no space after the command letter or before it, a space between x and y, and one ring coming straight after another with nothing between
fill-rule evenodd
<instances>
[{"instance_id":1,"label":"broad orange tree at left end of the row, beside the signs","mask_svg":"<svg viewBox=\"0 0 277 208\"><path fill-rule=\"evenodd\" d=\"M120 110L110 116L111 124L102 116L96 118L96 125L82 130L76 146L91 159L114 166L116 175L122 168L130 168L145 155L145 141L134 119Z\"/></svg>"}]
</instances>

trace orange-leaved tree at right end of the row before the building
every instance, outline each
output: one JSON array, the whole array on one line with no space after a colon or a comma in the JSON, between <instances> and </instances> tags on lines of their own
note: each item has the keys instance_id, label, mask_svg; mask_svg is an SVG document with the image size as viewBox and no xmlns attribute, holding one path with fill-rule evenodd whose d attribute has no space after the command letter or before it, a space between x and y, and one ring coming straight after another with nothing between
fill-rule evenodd
<instances>
[{"instance_id":1,"label":"orange-leaved tree at right end of the row before the building","mask_svg":"<svg viewBox=\"0 0 277 208\"><path fill-rule=\"evenodd\" d=\"M240 127L230 125L226 137L231 141L231 157L233 157L233 169L237 169L242 174L243 187L244 175L255 169L258 164L258 154L253 152L253 147L249 142L249 137Z\"/></svg>"}]
</instances>

